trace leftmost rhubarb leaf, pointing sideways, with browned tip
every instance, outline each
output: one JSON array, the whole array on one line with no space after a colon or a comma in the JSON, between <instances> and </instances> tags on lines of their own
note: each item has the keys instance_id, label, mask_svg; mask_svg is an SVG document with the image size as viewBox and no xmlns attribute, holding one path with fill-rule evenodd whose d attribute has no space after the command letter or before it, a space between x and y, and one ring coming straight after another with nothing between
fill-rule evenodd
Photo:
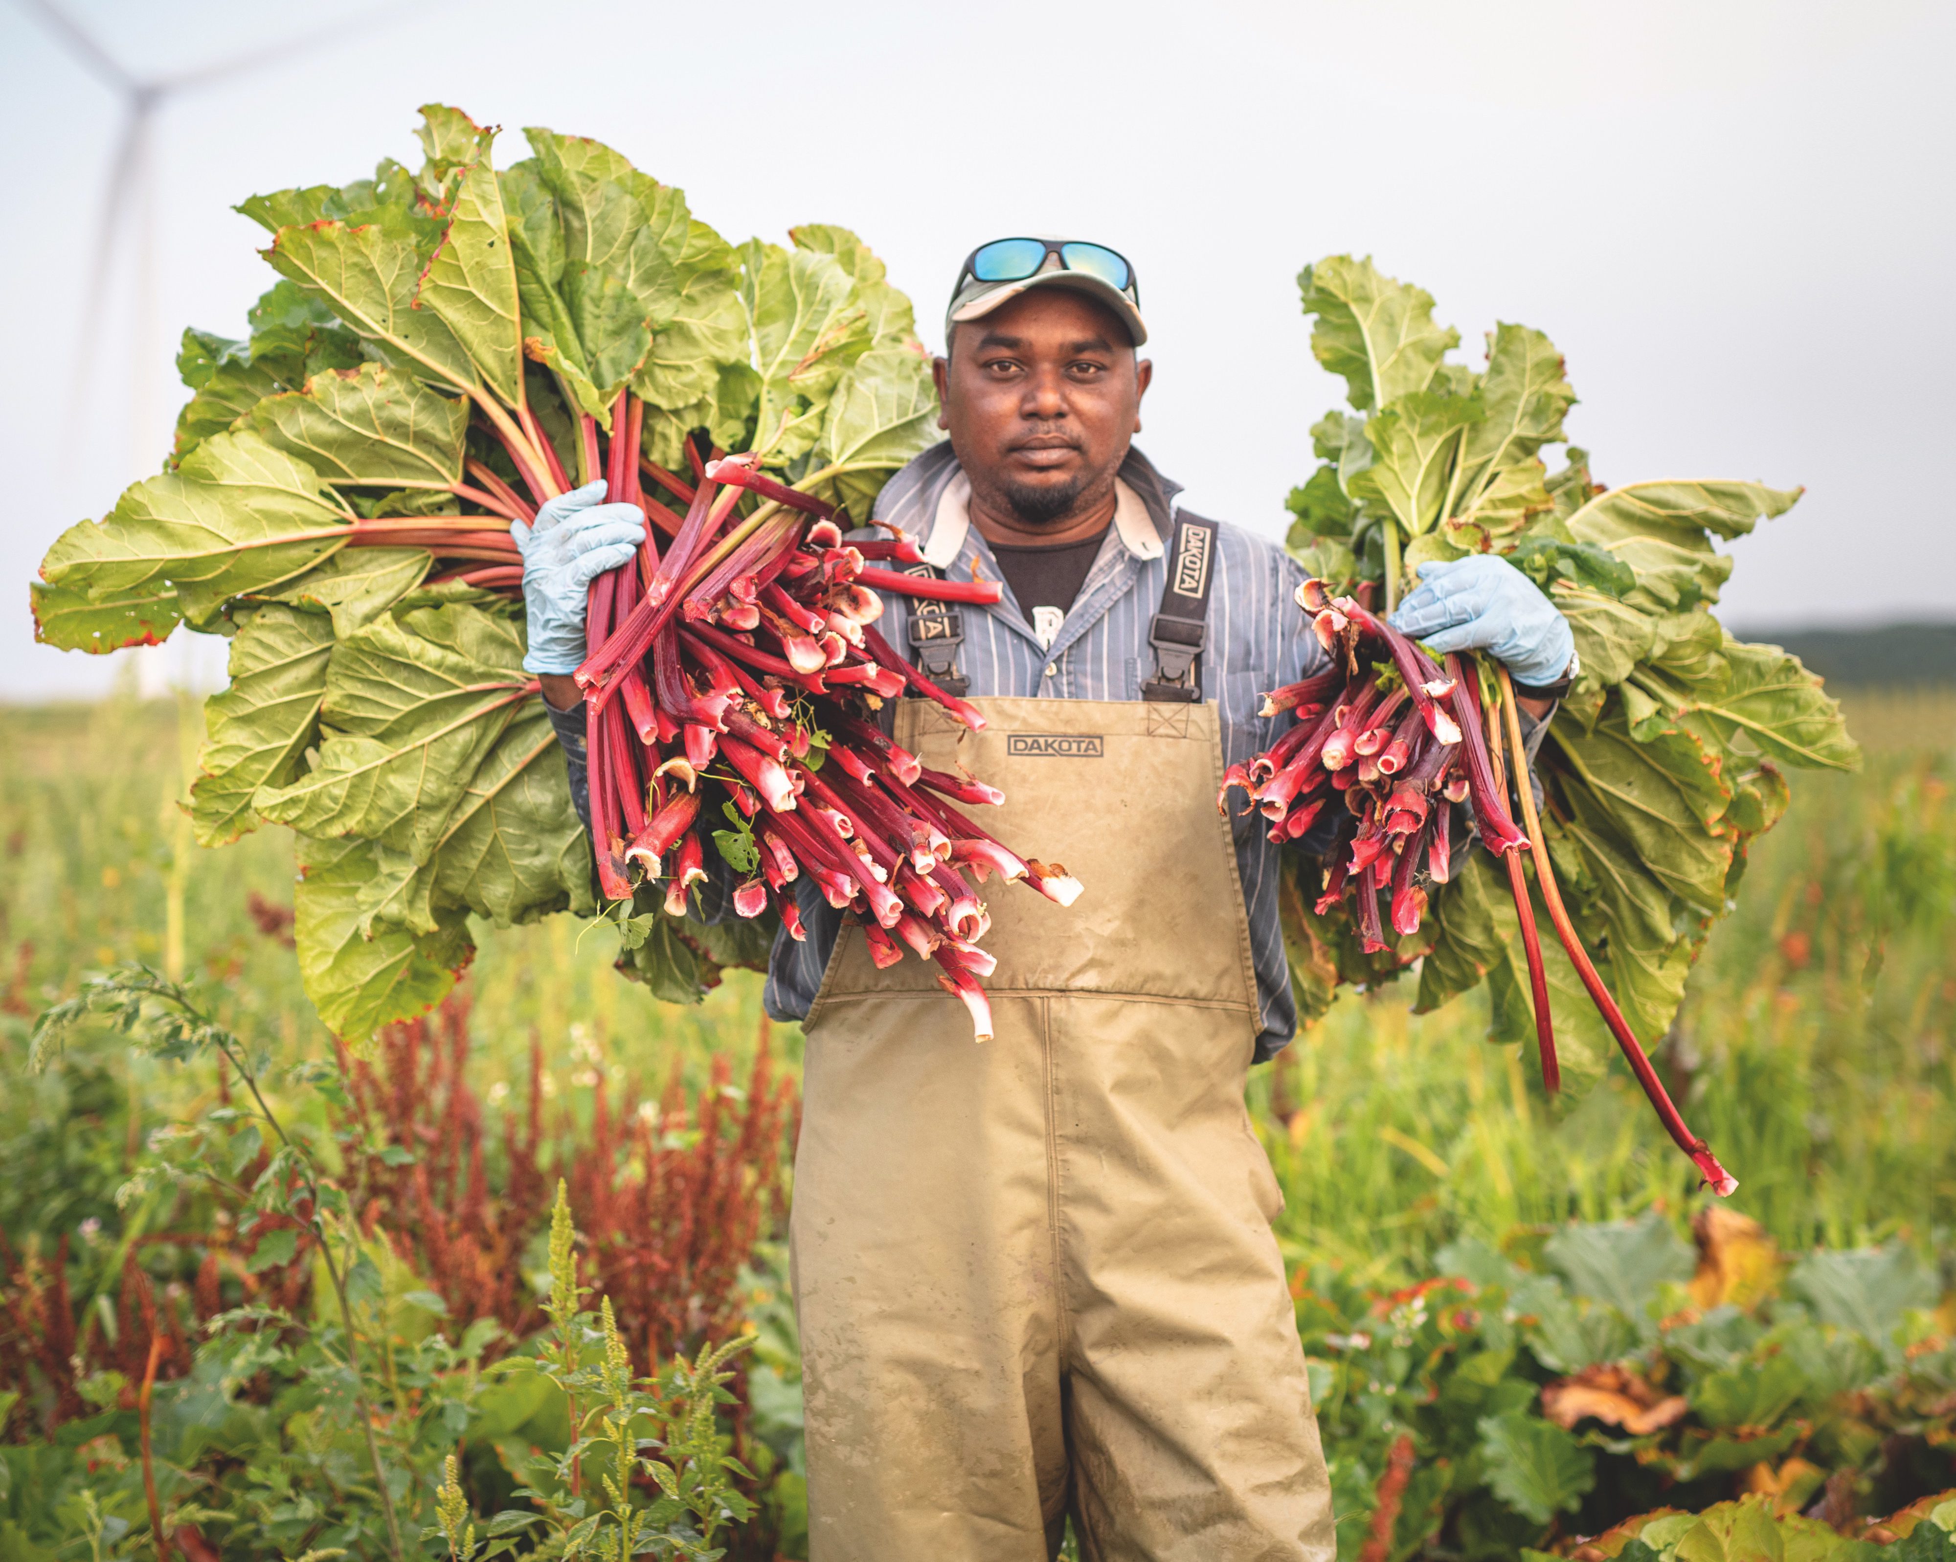
<instances>
[{"instance_id":1,"label":"leftmost rhubarb leaf, pointing sideways, with browned tip","mask_svg":"<svg viewBox=\"0 0 1956 1562\"><path fill-rule=\"evenodd\" d=\"M70 527L41 575L94 601L170 585L201 628L231 597L293 579L344 544L346 515L319 474L244 431L215 435L178 472L137 483L100 525Z\"/></svg>"}]
</instances>

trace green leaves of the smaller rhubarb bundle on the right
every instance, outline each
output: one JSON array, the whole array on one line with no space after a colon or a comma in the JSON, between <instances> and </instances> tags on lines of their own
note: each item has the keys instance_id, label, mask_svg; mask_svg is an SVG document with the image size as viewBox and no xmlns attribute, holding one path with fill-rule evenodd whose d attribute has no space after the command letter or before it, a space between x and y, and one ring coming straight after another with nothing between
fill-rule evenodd
<instances>
[{"instance_id":1,"label":"green leaves of the smaller rhubarb bundle on the right","mask_svg":"<svg viewBox=\"0 0 1956 1562\"><path fill-rule=\"evenodd\" d=\"M1459 333L1434 323L1432 296L1371 260L1332 256L1299 282L1316 319L1312 352L1346 378L1354 411L1311 431L1322 466L1291 491L1291 552L1336 589L1383 587L1387 605L1422 562L1496 552L1563 609L1582 673L1537 756L1541 830L1577 934L1653 1041L1733 902L1753 840L1786 810L1778 765L1860 763L1819 679L1778 648L1733 640L1708 611L1731 572L1713 538L1749 532L1800 493L1737 482L1604 489L1575 446L1551 474L1541 452L1567 438L1575 390L1547 337L1498 325L1487 366L1469 368L1447 360ZM1534 1034L1510 891L1481 853L1455 850L1451 881L1430 887L1426 928L1371 959L1344 949L1352 940L1332 926L1348 920L1342 910L1312 912L1322 867L1293 857L1291 873L1283 908L1307 1020L1338 983L1420 959L1422 1008L1485 983L1489 1039ZM1565 1096L1578 1098L1614 1045L1553 942L1543 967Z\"/></svg>"}]
</instances>

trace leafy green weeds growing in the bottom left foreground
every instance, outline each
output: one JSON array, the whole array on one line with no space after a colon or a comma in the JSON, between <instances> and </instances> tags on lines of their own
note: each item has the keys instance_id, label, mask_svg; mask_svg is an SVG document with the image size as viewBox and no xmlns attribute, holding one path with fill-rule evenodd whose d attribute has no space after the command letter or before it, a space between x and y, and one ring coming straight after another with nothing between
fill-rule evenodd
<instances>
[{"instance_id":1,"label":"leafy green weeds growing in the bottom left foreground","mask_svg":"<svg viewBox=\"0 0 1956 1562\"><path fill-rule=\"evenodd\" d=\"M47 1447L0 1452L8 1554L39 1556L20 1546L74 1540L104 1556L125 1554L123 1542L153 1546L147 1478L180 1548L188 1533L227 1556L421 1556L403 1539L417 1519L421 1542L440 1542L450 1558L724 1554L716 1537L753 1513L735 1484L751 1478L724 1427L734 1403L726 1366L745 1339L706 1343L690 1360L634 1376L610 1300L599 1298L597 1313L585 1306L561 1184L550 1233L552 1333L524 1345L477 1319L450 1335L442 1298L401 1272L383 1241L362 1235L356 1190L329 1172L362 1147L327 1143L274 1106L289 1092L301 1102L317 1094L346 1118L338 1065L280 1069L270 1049L244 1043L192 990L143 967L92 979L47 1010L29 1061L63 1067L67 1047L94 1045L104 1026L145 1059L221 1059L241 1086L248 1106L209 1104L158 1133L117 1204L153 1204L166 1186L221 1190L244 1243L243 1270L264 1286L258 1300L211 1319L186 1376L156 1386L141 1439L155 1431L153 1468L147 1454L125 1452L139 1441L139 1417L127 1409L127 1378L113 1372L84 1382L104 1413L68 1421ZM307 1306L313 1272L329 1294ZM272 1286L280 1276L297 1290ZM129 1284L125 1272L125 1329L137 1323ZM8 1370L12 1343L0 1345ZM503 1355L512 1343L516 1353ZM10 1415L18 1394L0 1398L0 1415Z\"/></svg>"}]
</instances>

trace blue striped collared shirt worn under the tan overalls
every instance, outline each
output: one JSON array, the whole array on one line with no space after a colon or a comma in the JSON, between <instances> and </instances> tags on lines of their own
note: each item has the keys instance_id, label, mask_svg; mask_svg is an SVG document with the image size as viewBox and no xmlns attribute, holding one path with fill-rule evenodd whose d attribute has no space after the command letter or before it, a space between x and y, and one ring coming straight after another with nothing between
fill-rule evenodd
<instances>
[{"instance_id":1,"label":"blue striped collared shirt worn under the tan overalls","mask_svg":"<svg viewBox=\"0 0 1956 1562\"><path fill-rule=\"evenodd\" d=\"M939 503L958 476L949 442L925 450L882 489L874 521L911 532L951 579L972 579L974 570L984 579L1003 579L976 527L962 528L955 556L945 556L945 536L935 536L933 546ZM962 609L958 671L970 679L972 697L1140 699L1142 679L1154 675L1148 620L1162 605L1166 544L1174 534L1179 487L1162 480L1138 450L1131 450L1121 466L1121 482L1140 501L1142 515L1136 517L1133 503L1123 501L1123 515L1109 527L1050 650L1039 644L1009 587L998 607ZM1275 542L1238 527L1219 527L1209 640L1199 669L1203 699L1221 707L1224 763L1269 748L1279 726L1289 724L1289 716L1258 718L1264 691L1295 683L1324 662L1293 599L1301 581L1303 572ZM886 593L884 601L878 628L892 646L908 652L908 599ZM1207 808L1211 799L1189 799L1189 806ZM1269 844L1260 822L1252 812L1236 820L1234 834L1256 965L1256 1057L1264 1061L1295 1035L1297 1004L1291 1000L1291 971L1277 920L1279 848ZM802 891L798 904L808 942L796 943L786 934L775 940L767 1012L777 1020L806 1018L841 928L841 912L827 906L806 875L796 889Z\"/></svg>"}]
</instances>

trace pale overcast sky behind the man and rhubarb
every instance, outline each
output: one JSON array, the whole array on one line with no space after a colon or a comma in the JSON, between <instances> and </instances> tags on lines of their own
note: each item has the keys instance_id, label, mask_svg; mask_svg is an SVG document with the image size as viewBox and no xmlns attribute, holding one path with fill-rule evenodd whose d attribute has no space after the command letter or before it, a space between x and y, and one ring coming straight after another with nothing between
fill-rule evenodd
<instances>
[{"instance_id":1,"label":"pale overcast sky behind the man and rhubarb","mask_svg":"<svg viewBox=\"0 0 1956 1562\"><path fill-rule=\"evenodd\" d=\"M845 223L933 345L972 245L1121 249L1156 362L1140 444L1269 532L1342 390L1293 278L1369 253L1467 343L1547 331L1602 482L1807 485L1737 544L1735 626L1956 615L1950 4L53 2L135 76L276 59L166 100L149 258L135 202L92 292L121 104L0 8L0 699L108 685L117 658L31 642L25 581L160 462L178 331L243 335L274 280L231 204L419 157L426 100L509 127L501 161L520 125L608 141L732 239ZM178 640L153 671L221 671L219 642Z\"/></svg>"}]
</instances>

